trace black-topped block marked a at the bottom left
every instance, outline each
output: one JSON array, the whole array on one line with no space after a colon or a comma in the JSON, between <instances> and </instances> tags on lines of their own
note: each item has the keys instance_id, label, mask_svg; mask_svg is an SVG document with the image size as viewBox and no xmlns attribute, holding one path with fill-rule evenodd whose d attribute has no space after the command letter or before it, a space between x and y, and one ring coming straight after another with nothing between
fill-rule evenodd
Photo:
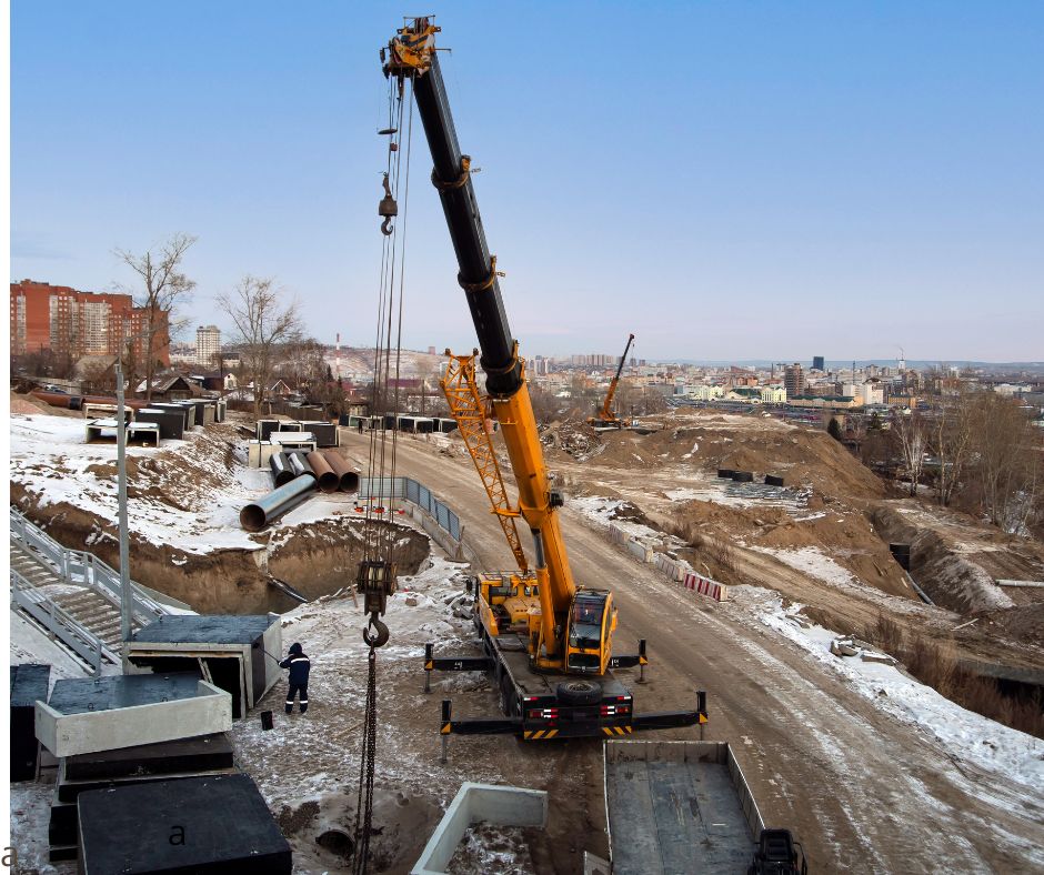
<instances>
[{"instance_id":1,"label":"black-topped block marked a at the bottom left","mask_svg":"<svg viewBox=\"0 0 1044 875\"><path fill-rule=\"evenodd\" d=\"M83 875L290 875L290 845L247 775L84 793Z\"/></svg>"}]
</instances>

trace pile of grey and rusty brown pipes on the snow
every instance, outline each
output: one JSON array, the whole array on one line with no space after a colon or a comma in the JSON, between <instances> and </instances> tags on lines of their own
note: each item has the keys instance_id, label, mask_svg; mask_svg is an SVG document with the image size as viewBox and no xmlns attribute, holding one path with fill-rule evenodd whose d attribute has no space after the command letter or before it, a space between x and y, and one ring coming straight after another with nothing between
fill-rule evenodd
<instances>
[{"instance_id":1,"label":"pile of grey and rusty brown pipes on the snow","mask_svg":"<svg viewBox=\"0 0 1044 875\"><path fill-rule=\"evenodd\" d=\"M332 450L311 453L273 453L269 465L275 489L262 499L251 502L239 514L240 525L248 532L260 532L277 516L292 510L309 494L322 492L355 492L359 474L349 462Z\"/></svg>"}]
</instances>

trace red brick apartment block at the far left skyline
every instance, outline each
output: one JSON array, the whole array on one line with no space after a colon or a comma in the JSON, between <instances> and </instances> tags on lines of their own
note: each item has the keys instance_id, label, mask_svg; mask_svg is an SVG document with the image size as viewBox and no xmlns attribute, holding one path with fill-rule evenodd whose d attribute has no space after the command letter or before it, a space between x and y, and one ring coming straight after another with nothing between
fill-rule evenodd
<instances>
[{"instance_id":1,"label":"red brick apartment block at the far left skyline","mask_svg":"<svg viewBox=\"0 0 1044 875\"><path fill-rule=\"evenodd\" d=\"M170 364L167 313L152 349ZM124 339L133 338L134 356L144 361L148 310L135 308L129 294L78 292L68 285L22 280L11 283L11 354L40 350L83 355L118 355Z\"/></svg>"}]
</instances>

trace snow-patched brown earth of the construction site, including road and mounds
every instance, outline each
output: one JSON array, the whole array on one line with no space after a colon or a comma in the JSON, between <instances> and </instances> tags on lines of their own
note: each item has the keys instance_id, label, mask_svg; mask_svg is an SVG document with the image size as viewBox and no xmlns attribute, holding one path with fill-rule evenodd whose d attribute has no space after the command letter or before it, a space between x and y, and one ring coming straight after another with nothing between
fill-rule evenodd
<instances>
[{"instance_id":1,"label":"snow-patched brown earth of the construction site, including road and mounds","mask_svg":"<svg viewBox=\"0 0 1044 875\"><path fill-rule=\"evenodd\" d=\"M42 416L37 410L19 428L49 432ZM636 683L636 671L620 673L632 687L636 707L693 707L695 692L705 690L711 713L706 737L732 743L766 823L794 829L814 871L1044 868L1044 744L956 706L947 708L948 703L940 703L932 691L891 666L856 670L843 664L816 643L813 633L822 630L809 631L807 621L795 613L804 605L806 617L834 632L862 633L886 612L906 628L936 635L983 658L1021 660L1017 664L1041 667L1044 658L1032 635L1008 643L1000 625L990 628L991 612L954 632L966 622L962 614L913 597L867 515L874 505L891 500L867 472L835 454L835 449L844 452L840 446L821 445L820 438L830 440L825 435L792 433L790 426L780 430L754 418L714 422L683 416L663 424L666 428L649 435L594 438L576 428L572 431L579 433L579 449L572 452L561 449L562 432L568 431L562 429L556 445L549 447L550 466L568 495L562 520L576 580L613 589L620 611L614 636L619 650L630 651L638 638L649 642L646 683ZM679 428L703 431L675 433ZM345 454L364 460L369 435L344 430L342 435ZM396 443L395 473L424 483L460 515L471 564L509 567L511 553L460 440L400 435ZM185 441L163 452L202 452L204 446L220 453L214 462L224 460L234 469L224 487L237 501L263 491L262 480L244 474L234 453L225 457L225 444L219 441ZM37 464L47 475L29 471L29 460L18 461L13 494L26 499L31 505L27 510L42 513L50 533L62 540L63 516L53 509L73 499L48 502L39 491L60 480L59 457L69 454L57 444L32 452L41 454ZM762 454L754 455L757 452ZM43 457L46 453L50 455ZM731 500L715 482L717 466L780 473L789 485L811 492L800 510ZM86 470L82 462L70 467L77 475ZM56 470L57 479L51 476ZM154 466L142 473L157 491L150 493L153 499L163 490L159 473ZM107 481L108 467L98 476ZM178 502L185 505L187 499L181 495ZM191 516L193 509L185 506ZM96 512L104 510L81 511ZM707 562L712 576L733 575L726 581L733 584L730 601L712 602L685 591L612 544L606 521L613 514L621 524L649 531L649 537L664 543L667 536L657 530L694 526L710 545L697 561ZM225 544L223 549L259 547L233 539L234 525L220 514L193 519L191 531L177 531L173 543L163 542L162 526L154 520L143 522L151 527L139 547L151 551L151 563L164 556L175 566L198 556L217 561L201 546L208 531ZM350 504L302 506L265 542L303 539L302 531L352 527L351 519ZM96 521L97 531L111 527L110 520ZM84 549L84 532L89 536L91 531L77 520L66 533L67 546ZM415 536L414 530L404 533L404 549L413 550ZM76 539L80 542L72 543ZM100 543L101 535L94 539ZM715 546L721 542L729 550ZM329 547L321 553L327 566L334 562ZM131 561L133 566L133 553ZM239 569L242 557L235 563ZM307 564L302 547L293 573L307 575ZM700 570L696 563L694 567ZM503 834L490 838L506 848L495 857L498 871L579 873L583 851L606 856L598 740L522 744L505 736L456 736L450 740L449 763L440 764L440 700L452 698L460 716L492 716L496 694L478 673L436 676L433 692L422 692L424 643L434 642L440 653L474 653L470 621L452 610L469 569L433 547L430 560L416 557L409 571L388 614L392 640L379 656L374 825L380 834L373 838L379 871L409 869L463 781L550 793L545 831L526 831L521 842ZM333 593L338 575L328 567L323 574L324 591ZM348 582L348 574L338 574L342 584ZM220 567L212 570L210 580L220 581ZM291 582L297 585L300 577ZM233 583L231 592L235 590ZM203 604L200 610L214 609ZM233 604L227 610L239 609ZM295 872L349 868L338 849L342 845L330 833L351 833L355 806L367 671L361 627L360 611L343 594L324 595L284 614L284 642L301 641L313 661L310 712L282 715L284 691L277 685L262 702L262 707L275 711L275 728L262 731L255 715L233 728L237 761L258 782L290 838ZM23 636L19 641L21 656L28 651ZM649 737L694 734L677 730ZM12 796L12 806L18 802L19 796ZM36 802L26 792L26 805ZM19 823L28 831L24 819ZM39 868L49 867L41 863Z\"/></svg>"}]
</instances>

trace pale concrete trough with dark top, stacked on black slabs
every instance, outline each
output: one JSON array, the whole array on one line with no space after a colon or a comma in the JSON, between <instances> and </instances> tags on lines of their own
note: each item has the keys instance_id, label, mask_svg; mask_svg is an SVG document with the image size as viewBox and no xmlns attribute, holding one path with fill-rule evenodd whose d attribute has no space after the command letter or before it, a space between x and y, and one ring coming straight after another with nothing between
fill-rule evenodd
<instances>
[{"instance_id":1,"label":"pale concrete trough with dark top, stacked on black slabs","mask_svg":"<svg viewBox=\"0 0 1044 875\"><path fill-rule=\"evenodd\" d=\"M37 738L54 756L133 747L232 727L232 700L193 675L63 680L37 702Z\"/></svg>"}]
</instances>

